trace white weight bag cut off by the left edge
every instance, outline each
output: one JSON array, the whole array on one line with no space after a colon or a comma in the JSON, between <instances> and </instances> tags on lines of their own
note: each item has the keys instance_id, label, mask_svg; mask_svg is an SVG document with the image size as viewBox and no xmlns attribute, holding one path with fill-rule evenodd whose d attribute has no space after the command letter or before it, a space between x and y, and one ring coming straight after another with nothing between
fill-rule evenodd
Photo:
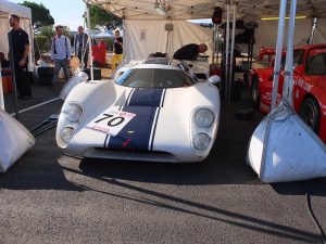
<instances>
[{"instance_id":1,"label":"white weight bag cut off by the left edge","mask_svg":"<svg viewBox=\"0 0 326 244\"><path fill-rule=\"evenodd\" d=\"M0 110L0 172L5 172L35 144L30 132L7 112Z\"/></svg>"}]
</instances>

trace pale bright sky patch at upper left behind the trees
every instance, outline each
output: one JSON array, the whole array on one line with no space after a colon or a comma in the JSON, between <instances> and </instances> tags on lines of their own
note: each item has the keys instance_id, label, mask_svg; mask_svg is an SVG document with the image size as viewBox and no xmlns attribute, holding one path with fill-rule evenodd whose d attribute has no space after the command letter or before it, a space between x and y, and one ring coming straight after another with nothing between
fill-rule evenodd
<instances>
[{"instance_id":1,"label":"pale bright sky patch at upper left behind the trees","mask_svg":"<svg viewBox=\"0 0 326 244\"><path fill-rule=\"evenodd\" d=\"M9 0L22 3L24 0ZM54 25L68 26L71 30L77 30L79 25L84 26L83 14L85 3L82 0L28 0L30 2L43 3L54 18Z\"/></svg>"}]
</instances>

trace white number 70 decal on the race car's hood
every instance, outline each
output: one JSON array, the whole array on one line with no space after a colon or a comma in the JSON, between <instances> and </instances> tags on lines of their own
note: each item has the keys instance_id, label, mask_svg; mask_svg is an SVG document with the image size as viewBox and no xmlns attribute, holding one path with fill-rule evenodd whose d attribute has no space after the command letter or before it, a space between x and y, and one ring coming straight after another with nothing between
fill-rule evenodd
<instances>
[{"instance_id":1,"label":"white number 70 decal on the race car's hood","mask_svg":"<svg viewBox=\"0 0 326 244\"><path fill-rule=\"evenodd\" d=\"M128 112L108 110L89 123L87 127L115 137L135 116L136 114Z\"/></svg>"}]
</instances>

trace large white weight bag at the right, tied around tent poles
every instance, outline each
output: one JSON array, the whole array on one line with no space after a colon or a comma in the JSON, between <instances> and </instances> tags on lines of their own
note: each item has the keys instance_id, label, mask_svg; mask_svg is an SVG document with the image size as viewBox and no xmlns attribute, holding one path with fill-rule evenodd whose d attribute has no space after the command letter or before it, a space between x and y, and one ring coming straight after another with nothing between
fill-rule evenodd
<instances>
[{"instance_id":1,"label":"large white weight bag at the right, tied around tent poles","mask_svg":"<svg viewBox=\"0 0 326 244\"><path fill-rule=\"evenodd\" d=\"M266 183L325 177L326 146L283 101L254 130L247 162Z\"/></svg>"}]
</instances>

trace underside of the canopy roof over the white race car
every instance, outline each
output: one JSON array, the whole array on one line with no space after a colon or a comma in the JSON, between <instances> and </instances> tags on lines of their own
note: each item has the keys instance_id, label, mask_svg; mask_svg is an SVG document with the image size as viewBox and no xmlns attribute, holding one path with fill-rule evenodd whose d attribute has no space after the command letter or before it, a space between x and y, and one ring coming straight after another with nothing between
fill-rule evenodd
<instances>
[{"instance_id":1,"label":"underside of the canopy roof over the white race car","mask_svg":"<svg viewBox=\"0 0 326 244\"><path fill-rule=\"evenodd\" d=\"M93 5L129 20L158 20L161 16L154 7L162 5L176 20L211 18L215 7L225 9L225 0L84 0ZM278 16L279 0L238 0L238 17L248 13L258 16ZM287 10L289 11L289 5ZM297 14L312 15L313 9L318 15L326 15L325 0L298 0ZM225 10L224 10L225 11Z\"/></svg>"}]
</instances>

